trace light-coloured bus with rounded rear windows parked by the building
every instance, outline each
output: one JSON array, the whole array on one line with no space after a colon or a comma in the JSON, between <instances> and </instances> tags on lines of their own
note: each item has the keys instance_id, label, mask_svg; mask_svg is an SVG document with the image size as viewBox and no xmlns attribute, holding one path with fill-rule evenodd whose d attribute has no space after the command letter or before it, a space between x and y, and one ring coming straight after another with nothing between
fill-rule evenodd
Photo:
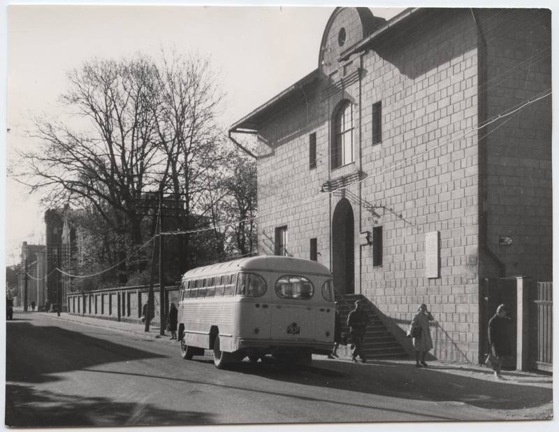
<instances>
[{"instance_id":1,"label":"light-coloured bus with rounded rear windows parked by the building","mask_svg":"<svg viewBox=\"0 0 559 432\"><path fill-rule=\"evenodd\" d=\"M334 343L332 274L307 259L259 256L184 273L178 307L183 359L212 350L222 369L266 355L310 363Z\"/></svg>"}]
</instances>

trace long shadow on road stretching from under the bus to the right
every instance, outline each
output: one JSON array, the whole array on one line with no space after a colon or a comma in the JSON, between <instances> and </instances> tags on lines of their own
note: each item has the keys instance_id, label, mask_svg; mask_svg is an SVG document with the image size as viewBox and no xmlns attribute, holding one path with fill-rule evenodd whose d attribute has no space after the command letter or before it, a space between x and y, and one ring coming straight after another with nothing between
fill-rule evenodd
<instances>
[{"instance_id":1,"label":"long shadow on road stretching from under the bus to the right","mask_svg":"<svg viewBox=\"0 0 559 432\"><path fill-rule=\"evenodd\" d=\"M456 375L448 373L449 366L445 366L447 372L443 372L437 368L417 369L413 363L390 361L370 362L365 366L313 360L312 365L242 361L234 363L230 369L270 380L418 401L463 402L493 410L535 408L553 399L552 389L510 381L494 382L489 376L490 381ZM491 375L490 370L488 375Z\"/></svg>"}]
</instances>

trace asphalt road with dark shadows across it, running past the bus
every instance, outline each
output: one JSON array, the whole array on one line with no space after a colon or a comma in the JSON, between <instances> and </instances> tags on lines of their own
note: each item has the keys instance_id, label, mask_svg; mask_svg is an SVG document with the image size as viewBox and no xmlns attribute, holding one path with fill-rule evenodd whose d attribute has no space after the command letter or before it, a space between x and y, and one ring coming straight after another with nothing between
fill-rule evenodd
<instances>
[{"instance_id":1,"label":"asphalt road with dark shadows across it, running past the bus","mask_svg":"<svg viewBox=\"0 0 559 432\"><path fill-rule=\"evenodd\" d=\"M437 378L445 374L412 363L243 361L217 370L209 355L181 359L168 339L54 314L16 313L6 333L8 426L476 421L551 401L551 389Z\"/></svg>"}]
</instances>

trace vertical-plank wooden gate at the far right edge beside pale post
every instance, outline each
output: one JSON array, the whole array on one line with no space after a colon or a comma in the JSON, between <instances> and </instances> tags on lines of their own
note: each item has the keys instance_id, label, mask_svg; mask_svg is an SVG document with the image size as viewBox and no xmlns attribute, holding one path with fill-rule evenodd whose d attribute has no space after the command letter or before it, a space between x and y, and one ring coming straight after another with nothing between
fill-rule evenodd
<instances>
[{"instance_id":1,"label":"vertical-plank wooden gate at the far right edge beside pale post","mask_svg":"<svg viewBox=\"0 0 559 432\"><path fill-rule=\"evenodd\" d=\"M530 293L530 368L552 371L553 282L537 282Z\"/></svg>"}]
</instances>

